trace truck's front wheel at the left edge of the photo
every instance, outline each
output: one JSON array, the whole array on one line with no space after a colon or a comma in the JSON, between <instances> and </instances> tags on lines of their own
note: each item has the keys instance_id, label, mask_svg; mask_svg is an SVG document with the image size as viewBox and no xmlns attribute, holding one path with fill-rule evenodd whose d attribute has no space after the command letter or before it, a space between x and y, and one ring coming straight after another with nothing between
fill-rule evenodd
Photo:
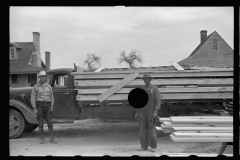
<instances>
[{"instance_id":1,"label":"truck's front wheel at the left edge of the photo","mask_svg":"<svg viewBox=\"0 0 240 160\"><path fill-rule=\"evenodd\" d=\"M20 112L14 109L9 110L9 138L18 138L25 128L25 119Z\"/></svg>"}]
</instances>

